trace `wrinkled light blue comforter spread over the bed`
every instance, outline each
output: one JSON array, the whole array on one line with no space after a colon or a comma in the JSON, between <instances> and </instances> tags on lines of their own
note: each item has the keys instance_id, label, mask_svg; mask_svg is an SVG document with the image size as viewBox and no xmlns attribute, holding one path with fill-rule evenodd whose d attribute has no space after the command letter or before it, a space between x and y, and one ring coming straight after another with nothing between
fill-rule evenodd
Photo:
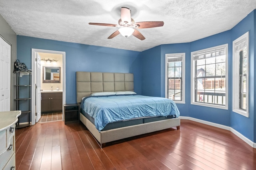
<instances>
[{"instance_id":1,"label":"wrinkled light blue comforter spread over the bed","mask_svg":"<svg viewBox=\"0 0 256 170\"><path fill-rule=\"evenodd\" d=\"M89 96L82 100L81 108L94 118L94 124L99 131L114 121L152 116L180 116L173 100L141 95Z\"/></svg>"}]
</instances>

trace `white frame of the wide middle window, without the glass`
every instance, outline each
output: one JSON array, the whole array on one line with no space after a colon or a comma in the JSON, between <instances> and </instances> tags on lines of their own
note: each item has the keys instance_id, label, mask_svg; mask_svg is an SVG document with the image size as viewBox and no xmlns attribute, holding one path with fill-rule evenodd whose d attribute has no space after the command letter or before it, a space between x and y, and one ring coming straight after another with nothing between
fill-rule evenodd
<instances>
[{"instance_id":1,"label":"white frame of the wide middle window, without the glass","mask_svg":"<svg viewBox=\"0 0 256 170\"><path fill-rule=\"evenodd\" d=\"M225 93L225 106L222 105L217 105L217 104L209 104L209 103L201 103L201 102L196 102L195 101L195 82L196 82L196 76L195 76L195 72L196 72L196 68L195 68L195 60L194 60L194 54L196 53L202 53L205 51L211 51L214 49L218 49L218 48L222 48L225 47L225 55L226 55L226 61L225 61L225 88L226 88L226 93ZM215 76L213 76L215 77ZM228 109L228 44L224 44L224 45L218 45L215 47L210 47L207 49L202 49L202 50L198 50L198 51L193 51L191 52L191 104L192 105L198 105L198 106L206 106L206 107L213 107L213 108L218 108L218 109Z\"/></svg>"}]
</instances>

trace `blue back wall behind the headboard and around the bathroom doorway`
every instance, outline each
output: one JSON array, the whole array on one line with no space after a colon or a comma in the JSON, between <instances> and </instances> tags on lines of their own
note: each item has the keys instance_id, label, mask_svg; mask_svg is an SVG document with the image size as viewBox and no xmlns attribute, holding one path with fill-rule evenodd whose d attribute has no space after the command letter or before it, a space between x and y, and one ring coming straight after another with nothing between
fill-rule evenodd
<instances>
[{"instance_id":1,"label":"blue back wall behind the headboard and around the bathroom doorway","mask_svg":"<svg viewBox=\"0 0 256 170\"><path fill-rule=\"evenodd\" d=\"M31 49L66 52L66 103L76 103L76 71L134 74L134 91L141 94L139 52L17 36L17 59L31 69Z\"/></svg>"}]
</instances>

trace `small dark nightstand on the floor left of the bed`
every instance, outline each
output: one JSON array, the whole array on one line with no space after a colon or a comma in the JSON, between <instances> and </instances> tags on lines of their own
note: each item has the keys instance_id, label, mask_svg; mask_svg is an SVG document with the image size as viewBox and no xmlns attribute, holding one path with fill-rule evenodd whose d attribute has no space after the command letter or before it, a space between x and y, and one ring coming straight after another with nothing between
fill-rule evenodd
<instances>
[{"instance_id":1,"label":"small dark nightstand on the floor left of the bed","mask_svg":"<svg viewBox=\"0 0 256 170\"><path fill-rule=\"evenodd\" d=\"M79 122L79 105L64 104L65 125L67 123Z\"/></svg>"}]
</instances>

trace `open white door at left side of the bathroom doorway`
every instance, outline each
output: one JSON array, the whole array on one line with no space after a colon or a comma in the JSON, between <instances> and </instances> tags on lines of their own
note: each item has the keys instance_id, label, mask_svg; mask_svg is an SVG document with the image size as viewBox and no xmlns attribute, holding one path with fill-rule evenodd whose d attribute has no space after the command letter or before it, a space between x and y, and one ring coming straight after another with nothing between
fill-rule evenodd
<instances>
[{"instance_id":1,"label":"open white door at left side of the bathroom doorway","mask_svg":"<svg viewBox=\"0 0 256 170\"><path fill-rule=\"evenodd\" d=\"M41 117L41 57L36 53L36 122Z\"/></svg>"}]
</instances>

